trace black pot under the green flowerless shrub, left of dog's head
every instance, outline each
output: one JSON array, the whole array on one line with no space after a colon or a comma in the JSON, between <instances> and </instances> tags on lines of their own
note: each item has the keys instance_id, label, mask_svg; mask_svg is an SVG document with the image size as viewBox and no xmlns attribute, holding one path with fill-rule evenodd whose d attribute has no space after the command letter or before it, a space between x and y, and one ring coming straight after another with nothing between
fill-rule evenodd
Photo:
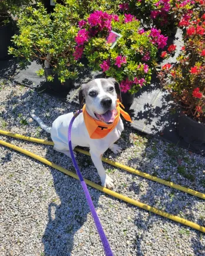
<instances>
[{"instance_id":1,"label":"black pot under the green flowerless shrub, left of dog's head","mask_svg":"<svg viewBox=\"0 0 205 256\"><path fill-rule=\"evenodd\" d=\"M44 68L45 70L45 78L48 76L54 76L54 81L47 81L47 86L57 93L65 92L68 93L72 88L74 88L75 80L67 79L64 83L58 80L58 75L54 74L52 68Z\"/></svg>"}]
</instances>

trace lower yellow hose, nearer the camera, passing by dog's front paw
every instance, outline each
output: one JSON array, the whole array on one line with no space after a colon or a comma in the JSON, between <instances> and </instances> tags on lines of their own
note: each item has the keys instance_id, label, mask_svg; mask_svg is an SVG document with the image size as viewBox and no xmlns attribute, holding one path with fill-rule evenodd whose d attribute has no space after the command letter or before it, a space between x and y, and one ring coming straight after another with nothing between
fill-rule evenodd
<instances>
[{"instance_id":1,"label":"lower yellow hose, nearer the camera, passing by dog's front paw","mask_svg":"<svg viewBox=\"0 0 205 256\"><path fill-rule=\"evenodd\" d=\"M34 159L37 159L38 161L40 161L42 163L45 163L45 165L48 165L48 166L51 166L52 168L60 170L61 172L65 173L66 175L71 176L72 178L78 179L78 176L75 173L71 172L70 170L64 169L59 165L55 165L55 163L52 163L52 162L48 161L47 159L45 159L41 156L35 155L34 153L29 152L28 150L25 150L25 149L22 149L21 147L12 145L11 143L4 142L3 140L0 140L0 144L3 145L3 146L9 147L11 149L14 149L18 152L21 152L21 153L23 153L27 156L30 156ZM165 218L171 219L172 221L179 222L179 223L181 223L183 225L186 225L190 228L194 228L194 229L197 229L197 230L205 233L205 227L200 226L199 224L196 224L196 223L191 222L191 221L187 221L187 219L180 218L180 217L178 217L176 215L173 215L173 214L168 214L167 212L161 211L160 209L157 209L157 208L152 207L150 205L143 204L143 203L138 202L134 199L128 198L128 196L123 196L120 193L116 193L114 191L111 191L110 189L104 188L103 186L97 185L94 182L91 182L90 180L87 180L87 179L84 179L84 180L85 180L85 183L87 185L91 186L92 188L98 189L99 191L107 193L108 195L114 196L115 198L123 200L123 201L127 202L128 204L138 206L138 207L143 208L147 211L153 212L154 214L161 215Z\"/></svg>"}]
</instances>

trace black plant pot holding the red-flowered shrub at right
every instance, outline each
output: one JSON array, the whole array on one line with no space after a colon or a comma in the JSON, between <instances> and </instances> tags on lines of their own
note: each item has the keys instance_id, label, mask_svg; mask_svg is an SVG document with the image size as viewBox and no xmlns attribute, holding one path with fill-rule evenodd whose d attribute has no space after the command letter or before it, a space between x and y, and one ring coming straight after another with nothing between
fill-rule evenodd
<instances>
[{"instance_id":1,"label":"black plant pot holding the red-flowered shrub at right","mask_svg":"<svg viewBox=\"0 0 205 256\"><path fill-rule=\"evenodd\" d=\"M177 133L196 150L200 150L205 143L205 124L199 123L185 114L178 117Z\"/></svg>"}]
</instances>

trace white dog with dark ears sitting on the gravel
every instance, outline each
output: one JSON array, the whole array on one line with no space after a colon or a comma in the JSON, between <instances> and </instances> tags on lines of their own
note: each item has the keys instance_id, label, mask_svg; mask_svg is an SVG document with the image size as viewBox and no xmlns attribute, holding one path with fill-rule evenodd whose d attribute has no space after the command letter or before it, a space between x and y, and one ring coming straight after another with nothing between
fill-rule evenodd
<instances>
[{"instance_id":1,"label":"white dog with dark ears sitting on the gravel","mask_svg":"<svg viewBox=\"0 0 205 256\"><path fill-rule=\"evenodd\" d=\"M114 122L117 102L122 101L120 85L114 78L97 78L87 84L82 84L78 99L80 101L80 109L85 100L85 111L89 119L92 118L96 122L98 121L105 124L105 126L109 126ZM73 115L73 113L63 114L55 119L52 127L48 127L39 117L31 114L32 118L37 120L42 129L51 133L54 150L64 153L69 157L71 155L68 147L68 126ZM114 187L113 179L105 173L101 157L108 148L115 154L121 153L122 148L116 145L115 142L120 138L121 132L124 130L123 121L119 118L114 129L105 137L92 139L84 119L84 113L80 113L72 125L72 149L76 146L90 147L91 159L98 171L101 184L111 189ZM101 130L106 128L104 126L98 127Z\"/></svg>"}]
</instances>

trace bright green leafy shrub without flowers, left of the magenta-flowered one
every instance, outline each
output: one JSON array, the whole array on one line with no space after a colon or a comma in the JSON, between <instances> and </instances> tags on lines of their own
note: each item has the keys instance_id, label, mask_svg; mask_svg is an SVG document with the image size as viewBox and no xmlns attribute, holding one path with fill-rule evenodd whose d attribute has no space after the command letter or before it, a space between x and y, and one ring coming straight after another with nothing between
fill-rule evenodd
<instances>
[{"instance_id":1,"label":"bright green leafy shrub without flowers, left of the magenta-flowered one","mask_svg":"<svg viewBox=\"0 0 205 256\"><path fill-rule=\"evenodd\" d=\"M77 63L74 59L75 26L78 14L75 5L56 4L54 12L48 14L41 2L37 8L29 6L18 19L19 34L14 35L14 47L9 53L19 57L22 63L38 60L42 68L38 76L46 76L47 81L59 81L59 87L70 87L77 77Z\"/></svg>"}]
</instances>

